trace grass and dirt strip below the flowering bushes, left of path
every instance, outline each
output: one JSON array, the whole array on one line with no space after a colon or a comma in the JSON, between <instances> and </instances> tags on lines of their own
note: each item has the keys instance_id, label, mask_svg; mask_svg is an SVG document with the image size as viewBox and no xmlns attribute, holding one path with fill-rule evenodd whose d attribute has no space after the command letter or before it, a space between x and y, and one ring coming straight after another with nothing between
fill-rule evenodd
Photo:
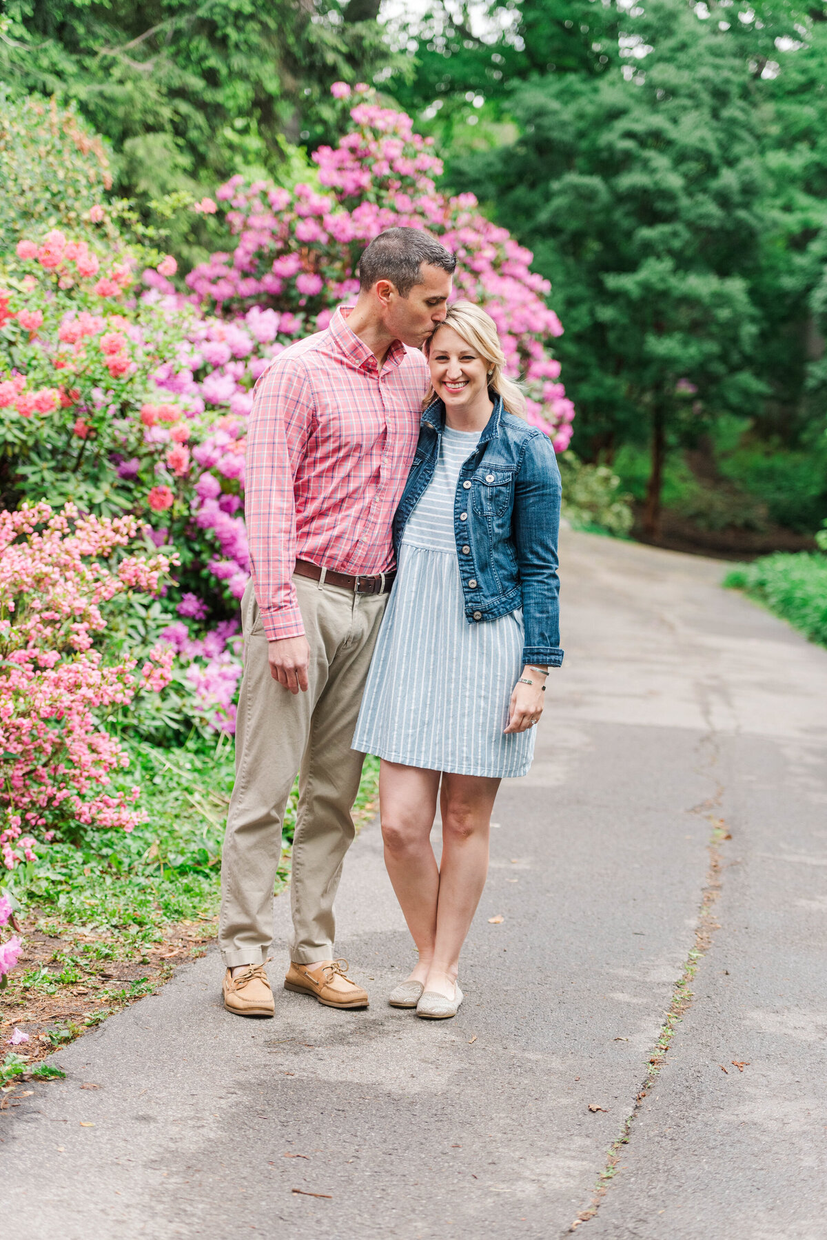
<instances>
[{"instance_id":1,"label":"grass and dirt strip below the flowering bushes, left of path","mask_svg":"<svg viewBox=\"0 0 827 1240\"><path fill-rule=\"evenodd\" d=\"M38 1059L153 993L217 932L232 742L193 735L177 749L144 742L129 749L129 777L141 786L149 821L130 835L88 830L45 846L15 872L24 954L0 992L0 1042L12 1028L29 1042L0 1058L0 1089L42 1075L50 1065ZM372 815L378 768L374 758L365 763L357 826ZM296 784L276 893L290 878L298 795Z\"/></svg>"}]
</instances>

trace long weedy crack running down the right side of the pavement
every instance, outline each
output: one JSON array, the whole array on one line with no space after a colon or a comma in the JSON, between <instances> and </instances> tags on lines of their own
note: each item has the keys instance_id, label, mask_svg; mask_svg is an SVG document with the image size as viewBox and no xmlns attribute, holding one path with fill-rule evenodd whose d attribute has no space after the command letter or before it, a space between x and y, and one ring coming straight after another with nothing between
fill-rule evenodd
<instances>
[{"instance_id":1,"label":"long weedy crack running down the right side of the pavement","mask_svg":"<svg viewBox=\"0 0 827 1240\"><path fill-rule=\"evenodd\" d=\"M714 771L718 765L718 735L714 725L712 724L708 703L704 703L704 714L707 715L707 720L709 723L709 732L707 735L701 738L698 748L702 749L704 745L710 748L710 755L708 763L705 764L705 773L715 779L715 790L714 794L705 801L702 801L699 805L696 805L687 811L688 813L697 813L704 817L712 827L709 839L707 842L709 862L707 866L704 884L701 890L701 905L698 908L698 919L694 929L694 946L687 952L681 976L672 987L670 1004L666 1009L658 1037L650 1053L646 1075L643 1076L643 1081L635 1096L632 1109L626 1116L620 1133L615 1137L606 1151L606 1161L603 1169L598 1174L593 1198L589 1205L580 1210L573 1223L562 1233L564 1236L577 1231L584 1223L588 1223L596 1215L606 1195L609 1185L620 1171L622 1148L629 1143L635 1120L640 1115L643 1102L651 1092L652 1086L657 1081L658 1073L666 1063L666 1056L674 1034L677 1033L677 1027L681 1024L684 1014L694 1002L694 992L689 990L689 983L694 978L698 968L701 967L701 962L712 946L712 939L715 930L720 929L713 910L720 895L722 887L723 853L720 846L724 841L732 839L732 832L729 831L724 818L720 817L724 785L719 779L712 775L712 771Z\"/></svg>"}]
</instances>

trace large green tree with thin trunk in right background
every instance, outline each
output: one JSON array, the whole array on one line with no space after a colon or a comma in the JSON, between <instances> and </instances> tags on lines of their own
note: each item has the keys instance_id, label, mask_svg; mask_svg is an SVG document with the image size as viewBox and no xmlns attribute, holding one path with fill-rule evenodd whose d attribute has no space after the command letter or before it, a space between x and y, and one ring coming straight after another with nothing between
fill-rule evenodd
<instances>
[{"instance_id":1,"label":"large green tree with thin trunk in right background","mask_svg":"<svg viewBox=\"0 0 827 1240\"><path fill-rule=\"evenodd\" d=\"M645 528L665 451L767 391L750 295L771 231L761 160L766 86L735 40L672 0L627 14L621 69L520 84L511 146L454 165L554 283L579 408L577 445L647 436Z\"/></svg>"}]
</instances>

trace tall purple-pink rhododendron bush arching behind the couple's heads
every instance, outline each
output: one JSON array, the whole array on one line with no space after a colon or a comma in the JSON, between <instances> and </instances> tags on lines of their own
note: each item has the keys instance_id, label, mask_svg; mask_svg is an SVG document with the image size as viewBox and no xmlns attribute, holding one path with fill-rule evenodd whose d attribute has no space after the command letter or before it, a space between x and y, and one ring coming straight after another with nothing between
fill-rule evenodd
<instances>
[{"instance_id":1,"label":"tall purple-pink rhododendron bush arching behind the couple's heads","mask_svg":"<svg viewBox=\"0 0 827 1240\"><path fill-rule=\"evenodd\" d=\"M531 252L490 223L474 195L448 198L436 191L441 161L431 139L413 133L409 117L366 102L351 118L352 129L335 150L314 154L322 192L311 185L289 191L247 184L241 176L223 185L217 198L229 208L236 249L213 254L186 283L223 315L247 310L248 330L283 347L326 326L336 305L355 299L358 255L378 233L425 228L456 254L456 295L485 305L496 321L507 371L526 384L529 422L564 451L574 405L549 351L563 327L546 304L548 283L529 269Z\"/></svg>"}]
</instances>

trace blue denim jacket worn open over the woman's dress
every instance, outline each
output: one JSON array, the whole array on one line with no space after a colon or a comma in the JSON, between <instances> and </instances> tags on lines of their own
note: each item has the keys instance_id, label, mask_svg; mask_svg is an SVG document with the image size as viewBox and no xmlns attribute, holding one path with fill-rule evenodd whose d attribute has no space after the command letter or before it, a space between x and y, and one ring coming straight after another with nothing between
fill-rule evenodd
<instances>
[{"instance_id":1,"label":"blue denim jacket worn open over the woman's dress","mask_svg":"<svg viewBox=\"0 0 827 1240\"><path fill-rule=\"evenodd\" d=\"M445 408L434 401L423 413L417 455L393 518L399 547L408 518L434 476ZM496 620L522 608L523 663L559 667L559 579L557 534L560 471L547 436L507 413L495 397L493 413L462 465L454 501L456 557L469 624Z\"/></svg>"}]
</instances>

